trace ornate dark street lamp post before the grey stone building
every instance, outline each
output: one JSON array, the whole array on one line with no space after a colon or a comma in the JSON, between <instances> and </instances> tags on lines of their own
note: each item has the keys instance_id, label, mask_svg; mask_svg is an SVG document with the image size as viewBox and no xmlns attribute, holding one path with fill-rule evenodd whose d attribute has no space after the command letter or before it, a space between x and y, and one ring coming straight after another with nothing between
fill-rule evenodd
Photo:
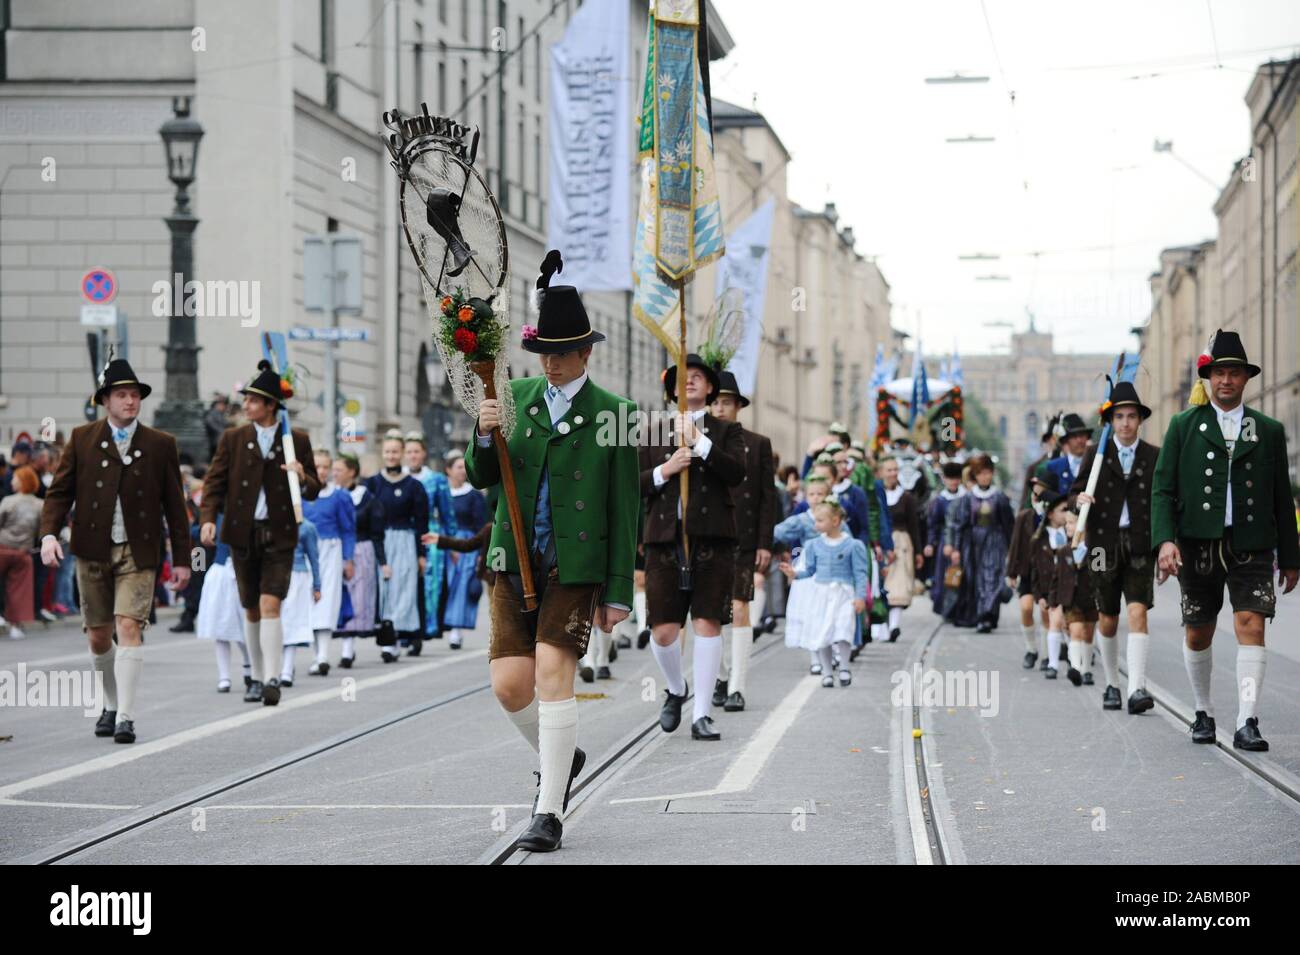
<instances>
[{"instance_id":1,"label":"ornate dark street lamp post before the grey stone building","mask_svg":"<svg viewBox=\"0 0 1300 955\"><path fill-rule=\"evenodd\" d=\"M188 96L174 97L172 109L176 114L162 123L159 134L166 149L168 178L176 186L176 208L168 216L166 225L172 233L170 281L179 288L173 287L170 296L172 317L168 318L166 344L162 348L166 352L166 386L162 403L153 416L153 425L176 435L181 453L187 453L198 464L208 460L204 408L199 400L199 344L194 309L182 307L177 313L176 303L190 303L185 286L194 273L194 230L199 220L190 212L188 188L194 182L203 126L190 116ZM186 311L191 314L186 314Z\"/></svg>"}]
</instances>

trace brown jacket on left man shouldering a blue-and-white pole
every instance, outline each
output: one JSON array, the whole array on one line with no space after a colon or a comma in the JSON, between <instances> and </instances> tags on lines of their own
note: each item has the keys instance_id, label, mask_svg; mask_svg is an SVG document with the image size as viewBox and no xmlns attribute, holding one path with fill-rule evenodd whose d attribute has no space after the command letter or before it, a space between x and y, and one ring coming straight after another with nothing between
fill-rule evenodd
<instances>
[{"instance_id":1,"label":"brown jacket on left man shouldering a blue-and-white pole","mask_svg":"<svg viewBox=\"0 0 1300 955\"><path fill-rule=\"evenodd\" d=\"M321 491L312 463L312 443L307 431L294 429L294 453L303 464L303 500L315 500ZM254 512L257 491L266 491L266 520L270 522L272 551L291 551L298 546L298 521L289 492L289 474L285 464L283 434L276 433L270 456L263 457L257 447L257 429L251 422L228 427L217 443L217 453L208 465L203 481L203 524L214 524L225 512L221 541L230 547L248 550L252 539Z\"/></svg>"}]
</instances>

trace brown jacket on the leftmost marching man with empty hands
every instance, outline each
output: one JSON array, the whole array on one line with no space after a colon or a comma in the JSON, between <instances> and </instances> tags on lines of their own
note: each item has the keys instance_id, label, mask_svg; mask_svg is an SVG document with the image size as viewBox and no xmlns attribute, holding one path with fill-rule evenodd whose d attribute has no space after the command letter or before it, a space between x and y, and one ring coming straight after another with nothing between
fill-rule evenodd
<instances>
[{"instance_id":1,"label":"brown jacket on the leftmost marching man with empty hands","mask_svg":"<svg viewBox=\"0 0 1300 955\"><path fill-rule=\"evenodd\" d=\"M118 500L136 567L152 568L161 563L164 517L173 560L190 563L190 517L176 438L143 424L135 426L125 460L117 452L108 418L73 429L58 459L55 481L46 491L40 537L57 535L72 511L73 555L84 560L109 560L113 505Z\"/></svg>"}]
</instances>

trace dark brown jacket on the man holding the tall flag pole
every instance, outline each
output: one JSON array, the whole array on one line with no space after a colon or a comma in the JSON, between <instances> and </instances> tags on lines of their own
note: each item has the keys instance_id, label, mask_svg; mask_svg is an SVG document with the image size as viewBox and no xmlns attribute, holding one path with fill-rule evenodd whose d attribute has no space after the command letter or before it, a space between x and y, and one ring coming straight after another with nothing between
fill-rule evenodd
<instances>
[{"instance_id":1,"label":"dark brown jacket on the man holding the tall flag pole","mask_svg":"<svg viewBox=\"0 0 1300 955\"><path fill-rule=\"evenodd\" d=\"M690 461L689 500L686 502L686 534L736 539L734 503L731 489L745 479L745 439L738 425L729 425L710 413L696 426L712 442L708 457ZM654 486L654 469L672 457L672 444L640 448L641 498L646 502L642 541L647 544L671 544L677 539L677 503L681 477L672 474L662 487Z\"/></svg>"}]
</instances>

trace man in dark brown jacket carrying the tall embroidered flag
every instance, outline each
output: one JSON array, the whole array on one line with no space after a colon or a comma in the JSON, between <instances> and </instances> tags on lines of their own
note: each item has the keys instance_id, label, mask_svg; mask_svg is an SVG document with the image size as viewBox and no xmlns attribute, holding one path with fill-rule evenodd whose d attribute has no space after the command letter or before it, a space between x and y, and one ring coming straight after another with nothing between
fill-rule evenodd
<instances>
[{"instance_id":1,"label":"man in dark brown jacket carrying the tall embroidered flag","mask_svg":"<svg viewBox=\"0 0 1300 955\"><path fill-rule=\"evenodd\" d=\"M686 681L677 635L694 621L696 703L692 739L722 739L708 717L710 687L722 665L722 625L731 622L736 574L736 520L731 489L745 479L745 442L734 425L708 413L718 396L718 372L698 355L686 357L685 414L673 416L673 431L685 447L641 447L642 531L646 563L646 618L655 660L667 682L659 725L672 733L681 722ZM677 399L677 366L664 373L668 400ZM653 440L653 438L651 438ZM681 513L682 470L689 473L686 513ZM682 550L689 544L689 564Z\"/></svg>"}]
</instances>

